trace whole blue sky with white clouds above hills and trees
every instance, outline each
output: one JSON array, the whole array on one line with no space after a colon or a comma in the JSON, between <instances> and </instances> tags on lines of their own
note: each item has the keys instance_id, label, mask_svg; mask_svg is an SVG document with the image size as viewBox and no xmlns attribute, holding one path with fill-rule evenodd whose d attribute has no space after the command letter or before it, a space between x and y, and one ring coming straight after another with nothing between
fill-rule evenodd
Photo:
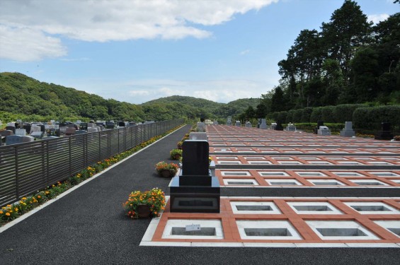
<instances>
[{"instance_id":1,"label":"whole blue sky with white clouds above hills and trees","mask_svg":"<svg viewBox=\"0 0 400 265\"><path fill-rule=\"evenodd\" d=\"M375 22L393 0L358 0ZM0 0L0 72L135 104L170 95L215 102L278 86L300 30L343 0Z\"/></svg>"}]
</instances>

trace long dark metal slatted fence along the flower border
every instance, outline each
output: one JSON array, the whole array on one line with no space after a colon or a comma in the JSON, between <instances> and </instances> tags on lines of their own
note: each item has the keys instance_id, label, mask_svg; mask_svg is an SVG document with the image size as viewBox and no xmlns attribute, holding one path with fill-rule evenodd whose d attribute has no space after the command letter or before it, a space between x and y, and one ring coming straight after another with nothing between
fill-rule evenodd
<instances>
[{"instance_id":1,"label":"long dark metal slatted fence along the flower border","mask_svg":"<svg viewBox=\"0 0 400 265\"><path fill-rule=\"evenodd\" d=\"M62 182L184 123L183 119L0 147L0 206Z\"/></svg>"}]
</instances>

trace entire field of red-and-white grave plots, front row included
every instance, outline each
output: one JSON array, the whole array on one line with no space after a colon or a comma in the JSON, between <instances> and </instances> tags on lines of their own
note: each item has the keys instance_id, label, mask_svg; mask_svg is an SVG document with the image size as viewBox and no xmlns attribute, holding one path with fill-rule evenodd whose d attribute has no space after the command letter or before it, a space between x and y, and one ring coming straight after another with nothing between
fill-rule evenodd
<instances>
[{"instance_id":1,"label":"entire field of red-and-white grave plots, front row included","mask_svg":"<svg viewBox=\"0 0 400 265\"><path fill-rule=\"evenodd\" d=\"M207 135L220 213L168 202L141 245L400 247L400 142L220 125Z\"/></svg>"}]
</instances>

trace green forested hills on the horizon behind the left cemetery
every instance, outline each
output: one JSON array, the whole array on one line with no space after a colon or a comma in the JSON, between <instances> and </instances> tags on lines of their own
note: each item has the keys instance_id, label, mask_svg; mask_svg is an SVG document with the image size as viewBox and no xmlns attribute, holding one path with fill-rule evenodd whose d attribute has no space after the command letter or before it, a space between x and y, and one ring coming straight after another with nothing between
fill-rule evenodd
<instances>
[{"instance_id":1,"label":"green forested hills on the horizon behind the left cemetery","mask_svg":"<svg viewBox=\"0 0 400 265\"><path fill-rule=\"evenodd\" d=\"M105 100L74 88L45 83L22 73L0 73L0 120L8 119L118 119L166 120L176 118L226 119L256 107L258 98L219 103L173 95L135 105Z\"/></svg>"}]
</instances>

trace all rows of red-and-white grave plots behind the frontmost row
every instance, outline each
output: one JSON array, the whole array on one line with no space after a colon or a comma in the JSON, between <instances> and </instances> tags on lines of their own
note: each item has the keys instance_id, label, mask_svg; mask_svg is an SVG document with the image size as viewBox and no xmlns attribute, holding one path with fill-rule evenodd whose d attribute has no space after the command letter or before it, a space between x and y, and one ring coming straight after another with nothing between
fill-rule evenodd
<instances>
[{"instance_id":1,"label":"all rows of red-and-white grave plots behind the frontmost row","mask_svg":"<svg viewBox=\"0 0 400 265\"><path fill-rule=\"evenodd\" d=\"M400 142L229 126L207 134L224 187L400 187Z\"/></svg>"}]
</instances>

